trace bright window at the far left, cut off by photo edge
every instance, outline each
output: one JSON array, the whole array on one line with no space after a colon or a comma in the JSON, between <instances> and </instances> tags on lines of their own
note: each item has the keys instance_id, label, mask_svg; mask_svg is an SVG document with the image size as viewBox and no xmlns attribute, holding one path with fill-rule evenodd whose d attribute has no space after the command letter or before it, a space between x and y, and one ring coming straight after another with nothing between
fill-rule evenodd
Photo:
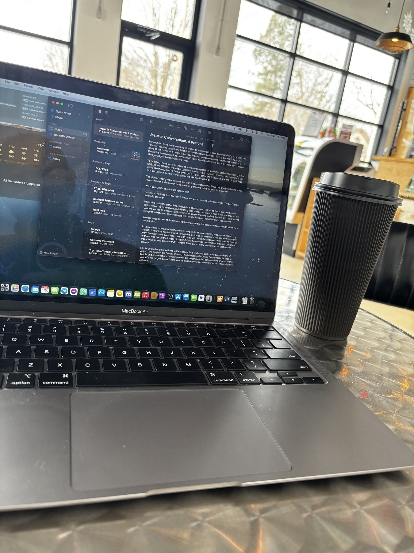
<instances>
[{"instance_id":1,"label":"bright window at the far left, cut off by photo edge","mask_svg":"<svg viewBox=\"0 0 414 553\"><path fill-rule=\"evenodd\" d=\"M0 60L68 73L72 0L0 0Z\"/></svg>"}]
</instances>

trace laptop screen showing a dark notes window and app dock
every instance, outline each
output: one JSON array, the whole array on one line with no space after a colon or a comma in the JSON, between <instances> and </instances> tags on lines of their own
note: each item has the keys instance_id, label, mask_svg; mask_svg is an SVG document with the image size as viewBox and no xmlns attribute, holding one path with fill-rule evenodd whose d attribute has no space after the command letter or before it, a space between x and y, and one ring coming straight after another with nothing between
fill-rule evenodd
<instances>
[{"instance_id":1,"label":"laptop screen showing a dark notes window and app dock","mask_svg":"<svg viewBox=\"0 0 414 553\"><path fill-rule=\"evenodd\" d=\"M292 143L282 123L0 64L0 300L274 311Z\"/></svg>"}]
</instances>

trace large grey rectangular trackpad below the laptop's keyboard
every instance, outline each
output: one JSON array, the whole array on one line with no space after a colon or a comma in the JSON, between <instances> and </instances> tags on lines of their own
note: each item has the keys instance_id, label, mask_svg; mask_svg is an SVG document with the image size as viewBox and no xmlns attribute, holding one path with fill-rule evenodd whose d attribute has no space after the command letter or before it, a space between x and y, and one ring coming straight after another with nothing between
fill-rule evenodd
<instances>
[{"instance_id":1,"label":"large grey rectangular trackpad below the laptop's keyboard","mask_svg":"<svg viewBox=\"0 0 414 553\"><path fill-rule=\"evenodd\" d=\"M188 485L291 469L242 390L71 395L72 487Z\"/></svg>"}]
</instances>

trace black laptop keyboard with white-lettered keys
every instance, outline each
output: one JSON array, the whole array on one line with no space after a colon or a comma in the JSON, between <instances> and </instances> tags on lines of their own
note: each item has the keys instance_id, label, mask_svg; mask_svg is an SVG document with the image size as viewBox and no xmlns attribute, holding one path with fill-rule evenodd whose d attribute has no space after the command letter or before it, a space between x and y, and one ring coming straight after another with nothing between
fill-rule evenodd
<instances>
[{"instance_id":1,"label":"black laptop keyboard with white-lettered keys","mask_svg":"<svg viewBox=\"0 0 414 553\"><path fill-rule=\"evenodd\" d=\"M0 317L0 336L6 388L324 383L272 326Z\"/></svg>"}]
</instances>

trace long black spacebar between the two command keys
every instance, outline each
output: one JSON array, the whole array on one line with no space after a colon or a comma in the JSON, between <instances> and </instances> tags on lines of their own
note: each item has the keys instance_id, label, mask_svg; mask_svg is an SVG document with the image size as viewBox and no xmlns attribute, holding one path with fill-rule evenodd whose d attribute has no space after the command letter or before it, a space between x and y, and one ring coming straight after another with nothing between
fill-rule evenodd
<instances>
[{"instance_id":1,"label":"long black spacebar between the two command keys","mask_svg":"<svg viewBox=\"0 0 414 553\"><path fill-rule=\"evenodd\" d=\"M76 375L77 386L182 386L208 384L203 373L92 373Z\"/></svg>"}]
</instances>

